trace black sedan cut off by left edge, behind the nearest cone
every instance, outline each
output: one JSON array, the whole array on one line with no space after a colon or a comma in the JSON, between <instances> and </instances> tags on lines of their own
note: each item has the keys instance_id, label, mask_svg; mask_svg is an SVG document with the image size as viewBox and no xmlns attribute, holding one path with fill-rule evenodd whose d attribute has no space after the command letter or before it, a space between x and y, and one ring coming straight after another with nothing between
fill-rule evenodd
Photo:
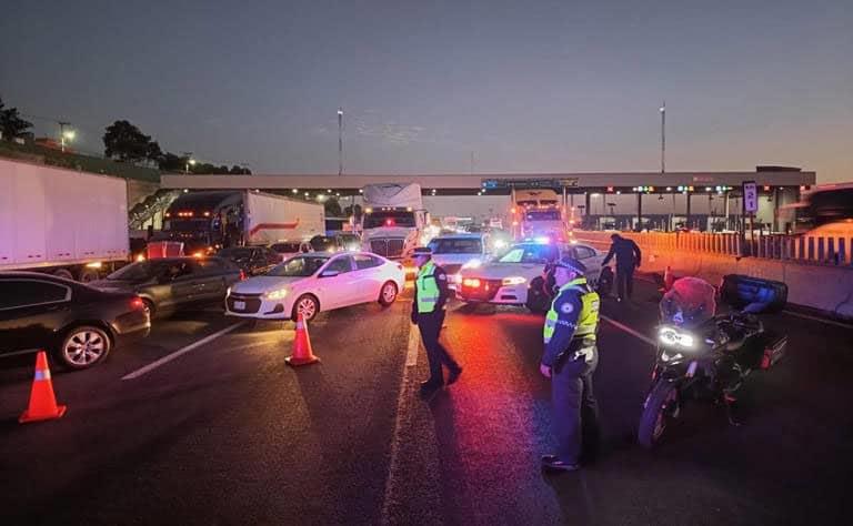
<instances>
[{"instance_id":1,"label":"black sedan cut off by left edge, behind the nearest cone","mask_svg":"<svg viewBox=\"0 0 853 526\"><path fill-rule=\"evenodd\" d=\"M68 368L101 362L119 340L148 334L142 300L33 272L0 273L0 356L49 351Z\"/></svg>"}]
</instances>

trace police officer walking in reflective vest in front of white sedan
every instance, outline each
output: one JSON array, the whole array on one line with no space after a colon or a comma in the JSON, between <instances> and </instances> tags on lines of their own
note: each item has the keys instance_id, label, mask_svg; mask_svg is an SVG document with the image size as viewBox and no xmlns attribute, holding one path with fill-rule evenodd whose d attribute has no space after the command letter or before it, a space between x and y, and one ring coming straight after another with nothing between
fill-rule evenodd
<instances>
[{"instance_id":1,"label":"police officer walking in reflective vest in front of white sedan","mask_svg":"<svg viewBox=\"0 0 853 526\"><path fill-rule=\"evenodd\" d=\"M442 364L448 367L448 385L459 378L462 367L453 360L442 344L439 333L444 323L444 304L450 296L448 274L432 261L432 250L425 246L414 249L418 276L414 281L412 323L418 324L430 361L430 380L421 383L421 394L429 395L444 385Z\"/></svg>"}]
</instances>

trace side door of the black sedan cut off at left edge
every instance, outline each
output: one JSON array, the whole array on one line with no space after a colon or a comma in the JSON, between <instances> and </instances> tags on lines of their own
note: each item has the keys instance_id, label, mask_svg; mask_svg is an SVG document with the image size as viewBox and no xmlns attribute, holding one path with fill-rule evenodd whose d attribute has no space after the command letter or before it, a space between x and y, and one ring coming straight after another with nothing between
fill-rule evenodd
<instances>
[{"instance_id":1,"label":"side door of the black sedan cut off at left edge","mask_svg":"<svg viewBox=\"0 0 853 526\"><path fill-rule=\"evenodd\" d=\"M44 350L71 310L71 287L38 279L0 280L0 355Z\"/></svg>"}]
</instances>

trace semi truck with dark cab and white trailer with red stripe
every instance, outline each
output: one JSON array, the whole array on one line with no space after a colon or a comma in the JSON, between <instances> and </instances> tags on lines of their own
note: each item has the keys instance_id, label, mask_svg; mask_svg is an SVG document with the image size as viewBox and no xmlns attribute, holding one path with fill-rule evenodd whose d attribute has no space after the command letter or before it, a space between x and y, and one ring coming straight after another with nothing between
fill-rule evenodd
<instances>
[{"instance_id":1,"label":"semi truck with dark cab and white trailer with red stripe","mask_svg":"<svg viewBox=\"0 0 853 526\"><path fill-rule=\"evenodd\" d=\"M242 191L187 192L163 218L155 241L179 241L188 255L219 249L308 241L325 232L322 204Z\"/></svg>"}]
</instances>

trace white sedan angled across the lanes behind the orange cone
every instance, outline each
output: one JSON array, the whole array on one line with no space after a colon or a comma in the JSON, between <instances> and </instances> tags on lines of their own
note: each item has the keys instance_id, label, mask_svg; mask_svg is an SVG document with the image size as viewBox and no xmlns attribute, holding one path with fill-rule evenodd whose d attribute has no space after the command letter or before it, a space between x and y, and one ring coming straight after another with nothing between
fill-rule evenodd
<instances>
[{"instance_id":1,"label":"white sedan angled across the lanes behind the orange cone","mask_svg":"<svg viewBox=\"0 0 853 526\"><path fill-rule=\"evenodd\" d=\"M379 302L390 305L405 285L400 263L367 252L312 252L291 257L264 275L235 283L225 315L310 321L320 311Z\"/></svg>"}]
</instances>

